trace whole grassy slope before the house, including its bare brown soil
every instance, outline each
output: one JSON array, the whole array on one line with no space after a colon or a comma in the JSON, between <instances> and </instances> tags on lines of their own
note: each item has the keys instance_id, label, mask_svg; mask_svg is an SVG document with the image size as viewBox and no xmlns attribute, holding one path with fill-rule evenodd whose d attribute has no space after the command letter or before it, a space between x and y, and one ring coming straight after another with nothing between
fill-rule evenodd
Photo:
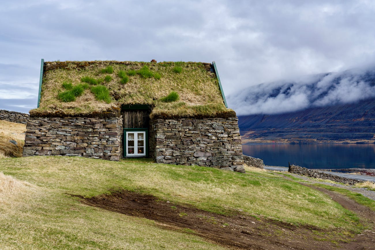
<instances>
[{"instance_id":1,"label":"whole grassy slope before the house, including its bare brown soil","mask_svg":"<svg viewBox=\"0 0 375 250\"><path fill-rule=\"evenodd\" d=\"M363 230L323 193L261 169L36 156L0 159L0 172L11 249L327 249Z\"/></svg>"}]
</instances>

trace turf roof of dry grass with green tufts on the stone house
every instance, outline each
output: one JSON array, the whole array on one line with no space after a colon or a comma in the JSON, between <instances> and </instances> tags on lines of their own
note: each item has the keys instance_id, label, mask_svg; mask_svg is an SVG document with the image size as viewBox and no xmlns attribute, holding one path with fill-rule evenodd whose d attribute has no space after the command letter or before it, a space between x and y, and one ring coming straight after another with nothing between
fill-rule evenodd
<instances>
[{"instance_id":1,"label":"turf roof of dry grass with green tufts on the stone house","mask_svg":"<svg viewBox=\"0 0 375 250\"><path fill-rule=\"evenodd\" d=\"M225 108L219 83L210 63L65 61L45 62L39 108L31 116L117 116L121 105L147 104L151 117L233 117ZM89 87L65 102L67 86ZM109 98L93 90L104 85ZM91 91L90 91L91 90ZM179 99L165 102L171 92ZM60 94L60 95L59 95ZM164 102L163 102L164 100Z\"/></svg>"}]
</instances>

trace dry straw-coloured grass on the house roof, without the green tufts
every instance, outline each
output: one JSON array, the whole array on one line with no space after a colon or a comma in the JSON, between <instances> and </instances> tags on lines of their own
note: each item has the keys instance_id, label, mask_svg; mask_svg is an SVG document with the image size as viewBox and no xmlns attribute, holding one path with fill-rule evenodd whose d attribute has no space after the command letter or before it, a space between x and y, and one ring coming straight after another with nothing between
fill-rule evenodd
<instances>
[{"instance_id":1,"label":"dry straw-coloured grass on the house roof, without the green tufts","mask_svg":"<svg viewBox=\"0 0 375 250\"><path fill-rule=\"evenodd\" d=\"M64 68L46 71L42 84L40 108L34 109L30 114L57 110L66 114L89 114L93 111L105 111L111 106L120 106L121 104L155 105L157 110L162 109L168 113L173 112L173 107L162 105L157 100L171 91L178 93L180 101L185 103L186 108L181 109L178 112L179 115L183 115L183 111L187 111L189 114L202 114L226 110L216 75L207 70L207 64L177 62L178 67L183 68L182 72L178 74L173 71L175 64L174 62L103 61L87 63L85 67L78 70L75 62L66 62ZM85 91L82 96L70 103L63 103L58 99L58 93L64 90L63 82L78 84L82 78L100 79L103 78L102 70L108 67L113 69L113 71L106 71L106 77L108 79L111 77L111 81L106 81L103 84L109 89L112 97L117 97L117 100L111 104L96 100L89 91ZM134 74L134 72L142 72L142 69L145 71L146 67L157 77L145 78L141 74ZM126 84L121 82L123 79L121 72L124 72L129 79ZM209 106L210 110L205 108L206 106Z\"/></svg>"}]
</instances>

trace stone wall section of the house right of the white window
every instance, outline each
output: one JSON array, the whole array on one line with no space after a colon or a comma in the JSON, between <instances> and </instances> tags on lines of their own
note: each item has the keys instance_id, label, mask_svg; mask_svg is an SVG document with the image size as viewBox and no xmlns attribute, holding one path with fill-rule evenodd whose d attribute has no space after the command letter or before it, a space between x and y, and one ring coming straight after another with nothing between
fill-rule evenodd
<instances>
[{"instance_id":1,"label":"stone wall section of the house right of the white window","mask_svg":"<svg viewBox=\"0 0 375 250\"><path fill-rule=\"evenodd\" d=\"M150 157L245 172L237 117L150 121Z\"/></svg>"}]
</instances>

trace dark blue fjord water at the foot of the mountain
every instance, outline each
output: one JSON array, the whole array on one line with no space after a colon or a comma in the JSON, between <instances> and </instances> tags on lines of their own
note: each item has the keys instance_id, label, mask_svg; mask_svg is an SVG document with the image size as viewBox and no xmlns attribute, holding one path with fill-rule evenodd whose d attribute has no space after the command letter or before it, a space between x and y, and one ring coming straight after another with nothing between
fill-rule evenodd
<instances>
[{"instance_id":1,"label":"dark blue fjord water at the foot of the mountain","mask_svg":"<svg viewBox=\"0 0 375 250\"><path fill-rule=\"evenodd\" d=\"M242 150L269 166L375 168L375 144L242 144Z\"/></svg>"}]
</instances>

